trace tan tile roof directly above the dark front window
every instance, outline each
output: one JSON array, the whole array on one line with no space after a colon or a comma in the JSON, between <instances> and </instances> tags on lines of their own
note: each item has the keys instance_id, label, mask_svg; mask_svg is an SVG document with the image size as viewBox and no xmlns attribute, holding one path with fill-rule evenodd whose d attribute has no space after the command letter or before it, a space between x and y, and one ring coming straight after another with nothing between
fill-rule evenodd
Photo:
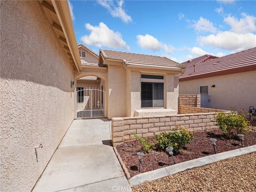
<instances>
[{"instance_id":1,"label":"tan tile roof directly above the dark front window","mask_svg":"<svg viewBox=\"0 0 256 192\"><path fill-rule=\"evenodd\" d=\"M123 60L126 66L168 68L178 70L186 68L186 66L165 57L138 53L126 53L113 50L100 50L100 52L105 59Z\"/></svg>"}]
</instances>

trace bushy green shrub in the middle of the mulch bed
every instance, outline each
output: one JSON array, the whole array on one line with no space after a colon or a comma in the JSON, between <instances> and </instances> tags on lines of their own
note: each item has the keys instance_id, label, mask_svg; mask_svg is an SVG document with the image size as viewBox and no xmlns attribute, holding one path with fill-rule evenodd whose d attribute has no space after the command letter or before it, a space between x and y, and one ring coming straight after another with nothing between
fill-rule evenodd
<instances>
[{"instance_id":1,"label":"bushy green shrub in the middle of the mulch bed","mask_svg":"<svg viewBox=\"0 0 256 192\"><path fill-rule=\"evenodd\" d=\"M178 152L193 139L194 134L189 132L186 128L175 129L174 132L156 134L157 147L164 150L166 147L171 146L174 152Z\"/></svg>"}]
</instances>

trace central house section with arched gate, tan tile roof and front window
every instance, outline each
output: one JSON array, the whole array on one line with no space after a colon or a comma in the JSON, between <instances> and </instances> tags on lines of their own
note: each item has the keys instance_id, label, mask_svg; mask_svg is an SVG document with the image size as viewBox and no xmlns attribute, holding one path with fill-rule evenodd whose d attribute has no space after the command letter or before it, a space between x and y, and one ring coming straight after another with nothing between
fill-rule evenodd
<instances>
[{"instance_id":1,"label":"central house section with arched gate, tan tile roof and front window","mask_svg":"<svg viewBox=\"0 0 256 192\"><path fill-rule=\"evenodd\" d=\"M99 65L85 63L81 76L98 85L77 89L77 118L133 117L178 113L179 75L185 70L165 57L100 50ZM98 80L97 80L98 79ZM86 98L79 100L81 98Z\"/></svg>"}]
</instances>

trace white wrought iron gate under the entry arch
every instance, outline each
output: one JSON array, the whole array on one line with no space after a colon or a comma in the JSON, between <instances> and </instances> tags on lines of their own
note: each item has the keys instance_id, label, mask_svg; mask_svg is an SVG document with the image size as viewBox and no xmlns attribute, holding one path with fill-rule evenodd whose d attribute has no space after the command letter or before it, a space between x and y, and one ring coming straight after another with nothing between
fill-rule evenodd
<instances>
[{"instance_id":1,"label":"white wrought iron gate under the entry arch","mask_svg":"<svg viewBox=\"0 0 256 192\"><path fill-rule=\"evenodd\" d=\"M105 117L105 94L98 87L77 87L76 118Z\"/></svg>"}]
</instances>

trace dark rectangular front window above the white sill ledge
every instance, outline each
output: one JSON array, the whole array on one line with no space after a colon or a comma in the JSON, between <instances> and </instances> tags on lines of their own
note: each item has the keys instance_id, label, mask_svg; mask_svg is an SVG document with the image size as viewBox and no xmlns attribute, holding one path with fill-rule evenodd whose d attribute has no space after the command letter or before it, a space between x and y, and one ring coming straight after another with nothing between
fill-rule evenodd
<instances>
[{"instance_id":1,"label":"dark rectangular front window above the white sill ledge","mask_svg":"<svg viewBox=\"0 0 256 192\"><path fill-rule=\"evenodd\" d=\"M141 75L141 107L164 107L164 76Z\"/></svg>"}]
</instances>

